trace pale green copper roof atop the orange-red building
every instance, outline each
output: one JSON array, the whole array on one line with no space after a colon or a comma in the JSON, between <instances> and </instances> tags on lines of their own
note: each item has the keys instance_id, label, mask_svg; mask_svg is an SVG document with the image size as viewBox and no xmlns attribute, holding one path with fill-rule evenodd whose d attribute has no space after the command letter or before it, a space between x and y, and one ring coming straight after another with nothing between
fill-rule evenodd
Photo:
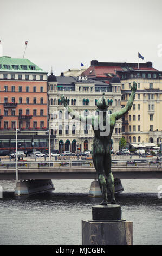
<instances>
[{"instance_id":1,"label":"pale green copper roof atop the orange-red building","mask_svg":"<svg viewBox=\"0 0 162 256\"><path fill-rule=\"evenodd\" d=\"M47 73L33 62L30 62L29 59L15 59L8 56L0 57L0 71Z\"/></svg>"}]
</instances>

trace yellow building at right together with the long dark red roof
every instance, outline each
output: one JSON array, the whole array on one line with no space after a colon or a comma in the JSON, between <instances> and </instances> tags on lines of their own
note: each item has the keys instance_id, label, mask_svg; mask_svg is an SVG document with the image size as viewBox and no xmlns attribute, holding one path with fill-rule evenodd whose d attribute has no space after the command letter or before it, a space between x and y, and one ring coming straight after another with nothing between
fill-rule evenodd
<instances>
[{"instance_id":1,"label":"yellow building at right together with the long dark red roof","mask_svg":"<svg viewBox=\"0 0 162 256\"><path fill-rule=\"evenodd\" d=\"M121 80L124 107L131 95L133 81L137 82L137 93L131 110L122 117L122 137L127 143L160 144L162 137L162 72L154 69L152 62L112 63L92 60L90 67L82 73L87 77L111 84L114 75Z\"/></svg>"}]
</instances>

